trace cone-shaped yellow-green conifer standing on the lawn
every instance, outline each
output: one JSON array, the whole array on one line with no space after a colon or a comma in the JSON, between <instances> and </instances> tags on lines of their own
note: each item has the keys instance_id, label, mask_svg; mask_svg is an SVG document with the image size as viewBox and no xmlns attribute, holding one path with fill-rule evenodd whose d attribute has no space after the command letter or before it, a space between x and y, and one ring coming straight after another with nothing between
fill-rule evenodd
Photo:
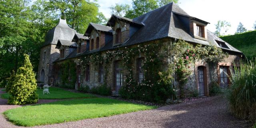
<instances>
[{"instance_id":1,"label":"cone-shaped yellow-green conifer standing on the lawn","mask_svg":"<svg viewBox=\"0 0 256 128\"><path fill-rule=\"evenodd\" d=\"M34 104L38 102L36 94L36 79L30 63L29 56L24 54L24 66L21 66L15 74L9 93L8 104Z\"/></svg>"}]
</instances>

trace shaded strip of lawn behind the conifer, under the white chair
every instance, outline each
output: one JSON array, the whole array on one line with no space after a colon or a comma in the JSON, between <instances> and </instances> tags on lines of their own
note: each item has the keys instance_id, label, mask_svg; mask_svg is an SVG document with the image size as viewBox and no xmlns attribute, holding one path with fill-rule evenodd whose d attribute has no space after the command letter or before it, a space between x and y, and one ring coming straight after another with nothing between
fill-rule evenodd
<instances>
[{"instance_id":1,"label":"shaded strip of lawn behind the conifer, under the white chair","mask_svg":"<svg viewBox=\"0 0 256 128\"><path fill-rule=\"evenodd\" d=\"M49 88L50 94L44 94L43 90L38 89L36 93L39 95L39 99L76 99L76 98L92 98L95 97L92 94L85 94L85 93L75 93L70 92L67 90L63 90L62 88L50 87ZM1 94L1 98L8 99L10 94L4 93Z\"/></svg>"}]
</instances>

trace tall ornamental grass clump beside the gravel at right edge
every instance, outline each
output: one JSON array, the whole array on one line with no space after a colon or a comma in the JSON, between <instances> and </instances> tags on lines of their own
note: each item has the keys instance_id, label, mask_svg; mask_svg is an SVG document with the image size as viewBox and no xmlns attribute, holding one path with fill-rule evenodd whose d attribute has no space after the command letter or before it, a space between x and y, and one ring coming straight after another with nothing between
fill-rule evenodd
<instances>
[{"instance_id":1,"label":"tall ornamental grass clump beside the gravel at right edge","mask_svg":"<svg viewBox=\"0 0 256 128\"><path fill-rule=\"evenodd\" d=\"M256 61L240 62L231 74L230 110L237 118L256 120Z\"/></svg>"}]
</instances>

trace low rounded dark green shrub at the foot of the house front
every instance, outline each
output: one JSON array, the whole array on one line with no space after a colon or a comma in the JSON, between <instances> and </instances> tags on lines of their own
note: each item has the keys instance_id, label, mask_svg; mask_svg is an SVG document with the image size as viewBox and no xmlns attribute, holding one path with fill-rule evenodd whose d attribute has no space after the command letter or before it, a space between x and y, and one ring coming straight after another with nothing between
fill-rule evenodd
<instances>
[{"instance_id":1,"label":"low rounded dark green shrub at the foot of the house front","mask_svg":"<svg viewBox=\"0 0 256 128\"><path fill-rule=\"evenodd\" d=\"M102 84L100 86L94 86L94 87L92 87L92 89L90 91L92 93L100 94L100 95L104 95L104 96L109 96L112 94L111 88L108 87L106 84Z\"/></svg>"}]
</instances>

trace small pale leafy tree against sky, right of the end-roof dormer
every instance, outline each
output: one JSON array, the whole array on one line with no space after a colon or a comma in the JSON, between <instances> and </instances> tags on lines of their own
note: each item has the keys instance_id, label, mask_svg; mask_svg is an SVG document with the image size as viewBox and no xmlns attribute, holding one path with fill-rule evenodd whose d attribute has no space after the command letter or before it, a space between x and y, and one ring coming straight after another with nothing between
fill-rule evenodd
<instances>
[{"instance_id":1,"label":"small pale leafy tree against sky, right of the end-roof dormer","mask_svg":"<svg viewBox=\"0 0 256 128\"><path fill-rule=\"evenodd\" d=\"M231 25L230 25L230 22L226 22L225 20L218 20L218 23L215 24L215 27L216 27L216 31L214 32L214 34L216 36L224 36L223 31L227 32L228 28L230 28Z\"/></svg>"}]
</instances>

